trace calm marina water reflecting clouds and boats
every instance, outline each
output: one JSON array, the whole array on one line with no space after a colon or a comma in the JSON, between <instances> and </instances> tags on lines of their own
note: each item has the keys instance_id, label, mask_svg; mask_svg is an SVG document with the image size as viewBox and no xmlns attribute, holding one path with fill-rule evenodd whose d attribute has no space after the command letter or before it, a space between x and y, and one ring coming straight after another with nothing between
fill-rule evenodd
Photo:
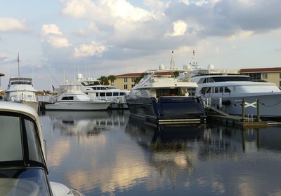
<instances>
[{"instance_id":1,"label":"calm marina water reflecting clouds and boats","mask_svg":"<svg viewBox=\"0 0 281 196\"><path fill-rule=\"evenodd\" d=\"M40 120L49 179L84 195L281 195L281 127L154 127L129 111Z\"/></svg>"}]
</instances>

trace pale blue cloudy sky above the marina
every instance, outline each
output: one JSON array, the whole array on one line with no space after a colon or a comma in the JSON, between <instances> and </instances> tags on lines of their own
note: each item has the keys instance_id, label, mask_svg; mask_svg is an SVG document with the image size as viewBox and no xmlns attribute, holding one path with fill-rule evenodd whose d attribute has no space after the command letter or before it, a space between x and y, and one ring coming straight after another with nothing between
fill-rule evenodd
<instances>
[{"instance_id":1,"label":"pale blue cloudy sky above the marina","mask_svg":"<svg viewBox=\"0 0 281 196\"><path fill-rule=\"evenodd\" d=\"M1 1L0 90L18 73L51 90L77 73L169 67L172 50L179 67L280 67L280 8L280 0Z\"/></svg>"}]
</instances>

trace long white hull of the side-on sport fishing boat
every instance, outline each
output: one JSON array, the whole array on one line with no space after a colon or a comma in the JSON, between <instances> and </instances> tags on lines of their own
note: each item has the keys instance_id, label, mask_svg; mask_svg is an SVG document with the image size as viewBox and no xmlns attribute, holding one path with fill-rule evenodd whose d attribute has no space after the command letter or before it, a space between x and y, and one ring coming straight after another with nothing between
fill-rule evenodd
<instances>
[{"instance_id":1,"label":"long white hull of the side-on sport fishing boat","mask_svg":"<svg viewBox=\"0 0 281 196\"><path fill-rule=\"evenodd\" d=\"M46 104L46 110L66 111L101 111L106 110L110 102L55 102Z\"/></svg>"}]
</instances>

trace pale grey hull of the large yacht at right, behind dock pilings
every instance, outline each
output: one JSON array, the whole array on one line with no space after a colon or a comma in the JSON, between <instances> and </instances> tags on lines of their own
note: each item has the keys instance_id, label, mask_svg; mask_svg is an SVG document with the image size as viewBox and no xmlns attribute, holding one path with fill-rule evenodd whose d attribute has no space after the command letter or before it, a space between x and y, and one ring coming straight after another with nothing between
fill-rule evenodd
<instances>
[{"instance_id":1,"label":"pale grey hull of the large yacht at right, behind dock pilings","mask_svg":"<svg viewBox=\"0 0 281 196\"><path fill-rule=\"evenodd\" d=\"M211 96L205 96L205 102ZM281 119L281 94L280 93L266 93L258 94L252 93L242 94L237 97L225 96L225 97L211 97L209 103L211 106L219 108L221 111L230 115L242 116L242 99L245 100L244 114L246 116L258 116L258 102L259 99L259 115L261 118L280 118ZM221 105L219 104L221 99Z\"/></svg>"}]
</instances>

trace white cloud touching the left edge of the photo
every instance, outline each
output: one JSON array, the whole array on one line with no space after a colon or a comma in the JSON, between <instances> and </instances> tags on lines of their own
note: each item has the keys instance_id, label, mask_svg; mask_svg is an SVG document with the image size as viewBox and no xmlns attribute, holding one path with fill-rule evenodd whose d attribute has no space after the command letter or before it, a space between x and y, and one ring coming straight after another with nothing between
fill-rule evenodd
<instances>
[{"instance_id":1,"label":"white cloud touching the left edge of the photo","mask_svg":"<svg viewBox=\"0 0 281 196\"><path fill-rule=\"evenodd\" d=\"M0 18L0 31L27 31L26 20L15 20L13 18Z\"/></svg>"}]
</instances>

